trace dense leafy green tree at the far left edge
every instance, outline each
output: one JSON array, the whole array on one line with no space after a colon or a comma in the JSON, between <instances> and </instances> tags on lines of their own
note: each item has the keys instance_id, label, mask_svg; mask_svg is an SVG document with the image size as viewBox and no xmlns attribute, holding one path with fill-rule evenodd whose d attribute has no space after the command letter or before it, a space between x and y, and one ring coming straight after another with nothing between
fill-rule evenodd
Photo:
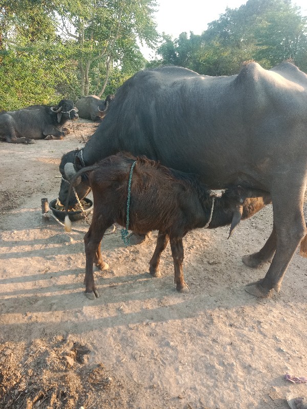
<instances>
[{"instance_id":1,"label":"dense leafy green tree at the far left edge","mask_svg":"<svg viewBox=\"0 0 307 409\"><path fill-rule=\"evenodd\" d=\"M50 10L26 0L1 6L0 109L58 102L60 85L68 90L76 78Z\"/></svg>"}]
</instances>

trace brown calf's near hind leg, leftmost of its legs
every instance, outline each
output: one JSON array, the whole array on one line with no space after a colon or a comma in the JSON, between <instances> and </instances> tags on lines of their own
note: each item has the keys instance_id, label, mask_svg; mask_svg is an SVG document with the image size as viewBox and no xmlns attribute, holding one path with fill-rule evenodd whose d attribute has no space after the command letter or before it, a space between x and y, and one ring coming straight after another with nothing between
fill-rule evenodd
<instances>
[{"instance_id":1,"label":"brown calf's near hind leg, leftmost of its legs","mask_svg":"<svg viewBox=\"0 0 307 409\"><path fill-rule=\"evenodd\" d=\"M85 258L86 258L86 265L85 265L85 277L84 277L84 284L85 284L85 296L90 300L95 300L95 297L100 297L99 292L95 286L94 282L94 274L93 274L93 263L98 252L98 247L100 247L100 241L104 235L106 229L95 229L92 228L92 224L90 226L89 231L84 236L84 245L85 245ZM101 255L100 255L101 258ZM102 261L102 258L101 258ZM103 261L102 261L103 262Z\"/></svg>"}]
</instances>

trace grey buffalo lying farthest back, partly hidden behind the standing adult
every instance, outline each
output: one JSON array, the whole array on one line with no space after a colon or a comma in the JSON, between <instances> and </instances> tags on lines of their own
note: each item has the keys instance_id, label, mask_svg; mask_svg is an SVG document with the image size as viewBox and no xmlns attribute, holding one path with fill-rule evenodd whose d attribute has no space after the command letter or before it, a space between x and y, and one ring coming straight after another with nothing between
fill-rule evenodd
<instances>
[{"instance_id":1,"label":"grey buffalo lying farthest back, partly hidden behind the standing adult","mask_svg":"<svg viewBox=\"0 0 307 409\"><path fill-rule=\"evenodd\" d=\"M105 117L109 104L114 99L114 95L108 95L105 100L89 95L76 101L76 107L79 109L79 117L100 121Z\"/></svg>"}]
</instances>

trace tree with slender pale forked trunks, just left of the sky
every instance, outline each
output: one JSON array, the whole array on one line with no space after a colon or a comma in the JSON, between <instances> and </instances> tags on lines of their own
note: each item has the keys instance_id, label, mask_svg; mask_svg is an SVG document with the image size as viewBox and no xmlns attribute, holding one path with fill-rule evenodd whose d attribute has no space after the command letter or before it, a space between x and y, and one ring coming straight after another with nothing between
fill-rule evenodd
<instances>
[{"instance_id":1,"label":"tree with slender pale forked trunks, just left of the sky","mask_svg":"<svg viewBox=\"0 0 307 409\"><path fill-rule=\"evenodd\" d=\"M101 96L114 66L127 65L128 60L135 72L144 66L137 39L148 46L155 44L155 7L151 0L62 2L58 8L61 28L64 36L75 40L81 95L95 92Z\"/></svg>"}]
</instances>

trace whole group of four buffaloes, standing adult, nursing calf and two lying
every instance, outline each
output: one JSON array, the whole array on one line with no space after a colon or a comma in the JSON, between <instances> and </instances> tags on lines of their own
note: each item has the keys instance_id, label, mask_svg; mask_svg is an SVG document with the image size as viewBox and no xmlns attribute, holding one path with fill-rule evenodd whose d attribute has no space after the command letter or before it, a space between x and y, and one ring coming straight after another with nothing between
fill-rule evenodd
<instances>
[{"instance_id":1,"label":"whole group of four buffaloes, standing adult, nursing calf and two lying","mask_svg":"<svg viewBox=\"0 0 307 409\"><path fill-rule=\"evenodd\" d=\"M299 244L307 256L307 75L292 63L265 70L249 62L238 75L223 77L176 66L143 70L105 100L89 96L3 111L0 138L28 144L63 139L65 122L79 116L101 123L81 150L62 156L58 196L68 208L93 191L84 237L90 299L99 297L93 263L107 268L100 242L114 222L139 234L159 231L149 268L154 277L170 241L179 291L187 290L182 238L188 231L226 224L232 231L268 203L272 233L243 262L254 268L270 263L269 269L246 290L271 297Z\"/></svg>"}]
</instances>

